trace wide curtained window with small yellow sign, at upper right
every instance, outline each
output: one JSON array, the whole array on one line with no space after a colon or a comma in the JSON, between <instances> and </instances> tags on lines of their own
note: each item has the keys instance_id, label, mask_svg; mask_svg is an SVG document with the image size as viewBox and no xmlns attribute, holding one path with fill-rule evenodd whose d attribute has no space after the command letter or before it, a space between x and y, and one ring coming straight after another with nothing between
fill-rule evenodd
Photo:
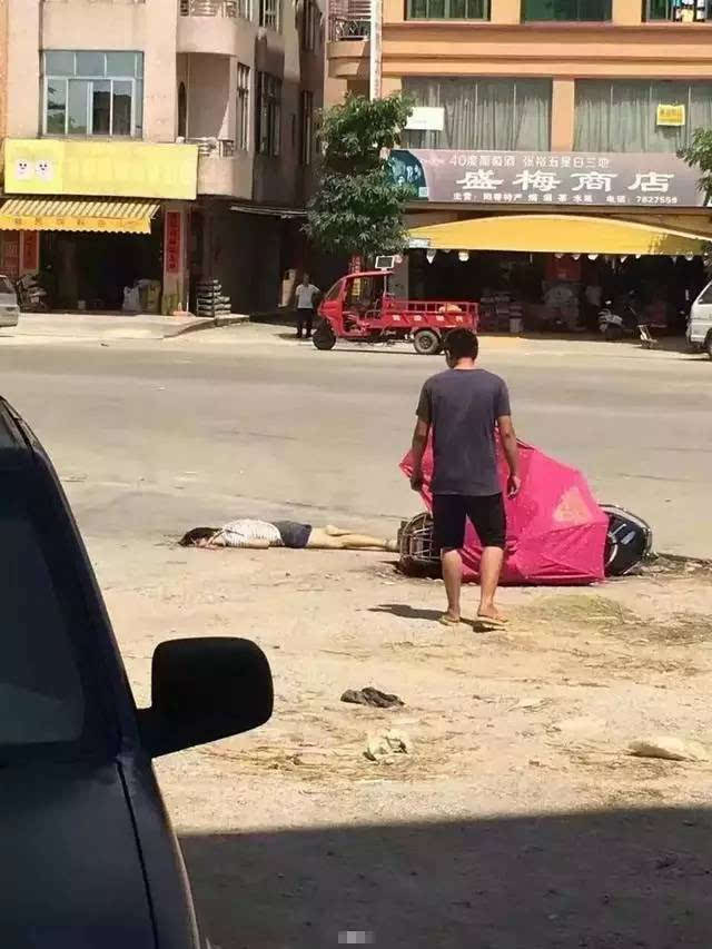
<instances>
[{"instance_id":1,"label":"wide curtained window with small yellow sign, at upper right","mask_svg":"<svg viewBox=\"0 0 712 949\"><path fill-rule=\"evenodd\" d=\"M682 125L659 125L659 106L684 106ZM712 82L576 82L576 151L678 151L694 129L711 127Z\"/></svg>"}]
</instances>

